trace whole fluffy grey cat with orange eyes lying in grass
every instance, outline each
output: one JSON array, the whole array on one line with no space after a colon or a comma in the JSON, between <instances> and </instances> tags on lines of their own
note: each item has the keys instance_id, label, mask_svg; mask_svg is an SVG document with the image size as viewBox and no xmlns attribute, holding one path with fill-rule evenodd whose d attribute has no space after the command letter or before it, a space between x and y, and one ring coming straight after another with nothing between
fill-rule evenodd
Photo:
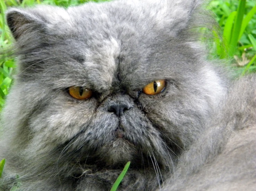
<instances>
[{"instance_id":1,"label":"whole fluffy grey cat with orange eyes lying in grass","mask_svg":"<svg viewBox=\"0 0 256 191\"><path fill-rule=\"evenodd\" d=\"M0 190L253 189L255 77L206 60L201 0L12 8Z\"/></svg>"}]
</instances>

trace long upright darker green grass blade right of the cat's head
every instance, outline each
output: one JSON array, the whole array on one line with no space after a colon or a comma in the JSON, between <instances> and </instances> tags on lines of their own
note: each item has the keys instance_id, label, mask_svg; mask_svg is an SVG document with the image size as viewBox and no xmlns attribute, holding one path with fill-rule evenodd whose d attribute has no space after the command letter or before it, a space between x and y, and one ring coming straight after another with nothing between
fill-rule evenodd
<instances>
[{"instance_id":1,"label":"long upright darker green grass blade right of the cat's head","mask_svg":"<svg viewBox=\"0 0 256 191\"><path fill-rule=\"evenodd\" d=\"M233 57L233 54L235 53L236 48L237 48L238 37L240 34L242 20L244 18L244 13L245 13L245 3L246 3L246 0L239 1L237 15L236 15L234 27L232 30L232 37L231 37L230 44L229 44L230 45L230 49L229 49L230 57Z\"/></svg>"}]
</instances>

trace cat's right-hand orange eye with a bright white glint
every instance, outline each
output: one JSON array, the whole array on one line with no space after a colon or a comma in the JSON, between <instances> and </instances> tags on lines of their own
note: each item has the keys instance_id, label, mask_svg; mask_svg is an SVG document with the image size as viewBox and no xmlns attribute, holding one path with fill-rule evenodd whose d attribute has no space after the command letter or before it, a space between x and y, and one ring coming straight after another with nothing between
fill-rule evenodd
<instances>
[{"instance_id":1,"label":"cat's right-hand orange eye with a bright white glint","mask_svg":"<svg viewBox=\"0 0 256 191\"><path fill-rule=\"evenodd\" d=\"M142 92L149 95L155 95L165 89L165 80L156 80L149 83L142 89Z\"/></svg>"}]
</instances>

